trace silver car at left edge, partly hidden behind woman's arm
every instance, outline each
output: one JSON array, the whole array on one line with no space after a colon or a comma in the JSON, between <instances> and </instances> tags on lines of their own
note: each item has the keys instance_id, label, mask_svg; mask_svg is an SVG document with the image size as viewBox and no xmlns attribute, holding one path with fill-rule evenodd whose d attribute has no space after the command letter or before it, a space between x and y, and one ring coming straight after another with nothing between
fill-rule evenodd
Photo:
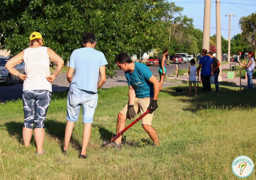
<instances>
[{"instance_id":1,"label":"silver car at left edge, partly hidden behind woman's arm","mask_svg":"<svg viewBox=\"0 0 256 180\"><path fill-rule=\"evenodd\" d=\"M8 60L9 57L0 56L0 82L5 83L7 86L9 86L12 81L19 81L20 83L23 83L20 78L11 75L11 73L5 68L5 64ZM14 68L17 69L20 73L25 74L24 62L16 65Z\"/></svg>"}]
</instances>

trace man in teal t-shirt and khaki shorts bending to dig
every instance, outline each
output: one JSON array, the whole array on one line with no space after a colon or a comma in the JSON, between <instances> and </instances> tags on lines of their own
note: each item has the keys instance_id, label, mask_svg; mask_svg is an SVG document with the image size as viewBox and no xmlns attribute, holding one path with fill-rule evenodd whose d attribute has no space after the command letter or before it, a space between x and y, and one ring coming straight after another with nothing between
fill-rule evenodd
<instances>
[{"instance_id":1,"label":"man in teal t-shirt and khaki shorts bending to dig","mask_svg":"<svg viewBox=\"0 0 256 180\"><path fill-rule=\"evenodd\" d=\"M117 133L119 133L125 128L127 118L132 119L139 112L143 114L148 109L152 109L152 111L157 109L160 82L145 64L134 63L127 53L119 53L115 58L115 62L120 69L125 71L124 74L129 86L129 101L117 116ZM157 146L159 145L158 135L151 126L153 114L154 112L143 117L141 124L153 140L154 145ZM122 136L109 144L109 146L120 147L121 139Z\"/></svg>"}]
</instances>

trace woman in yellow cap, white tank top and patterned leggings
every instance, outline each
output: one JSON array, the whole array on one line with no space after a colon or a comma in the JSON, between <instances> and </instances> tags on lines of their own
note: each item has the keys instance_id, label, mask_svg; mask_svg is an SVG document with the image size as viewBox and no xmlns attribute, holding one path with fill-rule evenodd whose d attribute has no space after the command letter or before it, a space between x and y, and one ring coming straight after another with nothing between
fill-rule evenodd
<instances>
[{"instance_id":1,"label":"woman in yellow cap, white tank top and patterned leggings","mask_svg":"<svg viewBox=\"0 0 256 180\"><path fill-rule=\"evenodd\" d=\"M34 138L37 155L45 153L44 121L52 98L52 82L62 69L64 62L52 49L44 47L44 40L39 32L30 35L30 45L27 49L11 58L5 65L9 72L19 78L23 83L23 141L24 146L30 145L32 128L34 124ZM25 63L25 74L19 73L14 66ZM50 61L57 64L53 74L50 74Z\"/></svg>"}]
</instances>

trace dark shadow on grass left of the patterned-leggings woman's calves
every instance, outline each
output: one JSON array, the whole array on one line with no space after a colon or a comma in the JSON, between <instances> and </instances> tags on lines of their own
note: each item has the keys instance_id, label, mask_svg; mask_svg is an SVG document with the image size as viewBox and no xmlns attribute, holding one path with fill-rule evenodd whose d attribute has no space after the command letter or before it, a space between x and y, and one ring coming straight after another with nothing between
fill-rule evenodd
<instances>
[{"instance_id":1,"label":"dark shadow on grass left of the patterned-leggings woman's calves","mask_svg":"<svg viewBox=\"0 0 256 180\"><path fill-rule=\"evenodd\" d=\"M5 123L5 126L7 127L7 131L9 133L9 135L11 137L16 138L19 141L19 143L23 144L23 139L22 139L23 123L11 121L11 122ZM32 141L33 141L33 139L32 139Z\"/></svg>"}]
</instances>

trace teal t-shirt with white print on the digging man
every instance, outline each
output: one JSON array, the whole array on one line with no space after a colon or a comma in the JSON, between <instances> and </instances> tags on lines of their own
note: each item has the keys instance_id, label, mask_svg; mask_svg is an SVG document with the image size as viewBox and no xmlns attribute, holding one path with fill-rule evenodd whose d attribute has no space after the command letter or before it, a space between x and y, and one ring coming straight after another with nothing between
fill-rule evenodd
<instances>
[{"instance_id":1,"label":"teal t-shirt with white print on the digging man","mask_svg":"<svg viewBox=\"0 0 256 180\"><path fill-rule=\"evenodd\" d=\"M153 97L154 85L149 82L153 73L148 66L142 63L135 63L133 73L125 71L124 73L129 86L133 86L137 98Z\"/></svg>"}]
</instances>

